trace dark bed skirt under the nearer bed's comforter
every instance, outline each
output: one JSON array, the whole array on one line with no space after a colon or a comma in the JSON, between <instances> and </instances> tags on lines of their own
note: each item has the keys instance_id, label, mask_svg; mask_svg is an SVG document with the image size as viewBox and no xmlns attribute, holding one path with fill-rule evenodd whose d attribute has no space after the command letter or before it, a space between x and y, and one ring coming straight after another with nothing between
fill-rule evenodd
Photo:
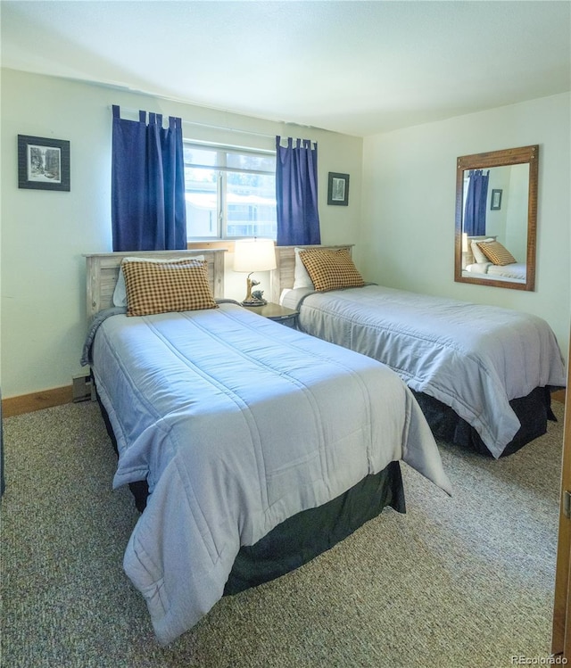
<instances>
[{"instance_id":1,"label":"dark bed skirt under the nearer bed's comforter","mask_svg":"<svg viewBox=\"0 0 571 668\"><path fill-rule=\"evenodd\" d=\"M99 396L96 396L117 454L117 440L109 416ZM149 492L147 482L130 482L129 489L137 510L142 513ZM399 513L406 512L401 466L397 461L391 462L383 471L363 478L323 506L289 517L254 545L240 548L224 595L237 594L275 580L307 564L347 538L362 524L380 515L387 506Z\"/></svg>"}]
</instances>

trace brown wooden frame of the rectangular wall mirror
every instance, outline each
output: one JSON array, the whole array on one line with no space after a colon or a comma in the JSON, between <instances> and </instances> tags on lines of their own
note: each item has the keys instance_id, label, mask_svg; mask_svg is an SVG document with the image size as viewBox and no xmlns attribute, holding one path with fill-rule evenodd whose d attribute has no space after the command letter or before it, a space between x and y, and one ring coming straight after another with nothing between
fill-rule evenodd
<instances>
[{"instance_id":1,"label":"brown wooden frame of the rectangular wall mirror","mask_svg":"<svg viewBox=\"0 0 571 668\"><path fill-rule=\"evenodd\" d=\"M513 283L501 278L478 278L466 276L462 271L462 219L464 202L464 172L467 169L488 169L509 165L529 164L529 186L527 192L527 257L525 259L525 283ZM539 145L509 148L489 153L460 156L456 165L456 235L454 245L454 280L457 283L492 285L511 290L535 289L535 248L537 234L537 181L539 171Z\"/></svg>"}]
</instances>

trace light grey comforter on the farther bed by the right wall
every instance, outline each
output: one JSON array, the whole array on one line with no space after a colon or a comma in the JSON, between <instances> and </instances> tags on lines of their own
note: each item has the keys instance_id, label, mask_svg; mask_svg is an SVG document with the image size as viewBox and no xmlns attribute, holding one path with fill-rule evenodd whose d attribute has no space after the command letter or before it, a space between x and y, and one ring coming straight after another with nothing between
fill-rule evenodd
<instances>
[{"instance_id":1,"label":"light grey comforter on the farther bed by the right wall","mask_svg":"<svg viewBox=\"0 0 571 668\"><path fill-rule=\"evenodd\" d=\"M300 305L303 331L384 362L411 389L453 408L496 458L520 426L509 401L566 384L550 326L519 311L381 285L297 289L283 303Z\"/></svg>"}]
</instances>

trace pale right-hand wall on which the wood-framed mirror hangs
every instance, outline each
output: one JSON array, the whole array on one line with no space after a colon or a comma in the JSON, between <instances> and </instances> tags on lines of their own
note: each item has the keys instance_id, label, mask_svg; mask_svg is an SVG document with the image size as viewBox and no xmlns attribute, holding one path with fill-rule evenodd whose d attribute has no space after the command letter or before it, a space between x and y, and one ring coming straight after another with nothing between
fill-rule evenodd
<instances>
[{"instance_id":1,"label":"pale right-hand wall on which the wood-framed mirror hangs","mask_svg":"<svg viewBox=\"0 0 571 668\"><path fill-rule=\"evenodd\" d=\"M545 318L567 359L571 314L571 95L370 136L363 144L360 268L371 281ZM535 292L454 282L456 159L539 144Z\"/></svg>"}]
</instances>

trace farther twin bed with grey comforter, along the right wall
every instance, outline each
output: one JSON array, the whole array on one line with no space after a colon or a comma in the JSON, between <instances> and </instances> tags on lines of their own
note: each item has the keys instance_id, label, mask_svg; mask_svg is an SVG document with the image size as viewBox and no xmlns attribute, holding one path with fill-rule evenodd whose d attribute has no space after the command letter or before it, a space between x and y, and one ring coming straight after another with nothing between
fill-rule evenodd
<instances>
[{"instance_id":1,"label":"farther twin bed with grey comforter, along the right wall","mask_svg":"<svg viewBox=\"0 0 571 668\"><path fill-rule=\"evenodd\" d=\"M350 246L304 250L351 254ZM542 318L382 285L352 287L345 278L340 289L318 292L303 275L300 251L277 248L276 297L299 309L302 331L393 368L437 437L499 458L545 433L554 419L550 389L566 379ZM327 261L331 268L338 260Z\"/></svg>"}]
</instances>

